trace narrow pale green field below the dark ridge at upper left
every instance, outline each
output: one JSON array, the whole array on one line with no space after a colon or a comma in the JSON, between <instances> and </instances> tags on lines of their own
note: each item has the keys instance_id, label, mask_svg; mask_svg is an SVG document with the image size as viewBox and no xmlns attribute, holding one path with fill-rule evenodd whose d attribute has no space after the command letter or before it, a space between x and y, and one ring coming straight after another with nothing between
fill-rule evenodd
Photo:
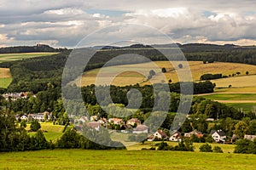
<instances>
[{"instance_id":1,"label":"narrow pale green field below the dark ridge at upper left","mask_svg":"<svg viewBox=\"0 0 256 170\"><path fill-rule=\"evenodd\" d=\"M57 53L23 53L23 54L0 54L0 63L34 57L48 56Z\"/></svg>"}]
</instances>

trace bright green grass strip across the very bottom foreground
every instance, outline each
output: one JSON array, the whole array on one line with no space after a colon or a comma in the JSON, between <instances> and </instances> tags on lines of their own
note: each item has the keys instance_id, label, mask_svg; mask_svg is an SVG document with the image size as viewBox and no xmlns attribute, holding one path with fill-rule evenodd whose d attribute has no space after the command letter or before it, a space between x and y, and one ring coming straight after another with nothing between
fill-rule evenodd
<instances>
[{"instance_id":1,"label":"bright green grass strip across the very bottom foreground","mask_svg":"<svg viewBox=\"0 0 256 170\"><path fill-rule=\"evenodd\" d=\"M1 169L255 169L255 155L150 150L39 150L0 154Z\"/></svg>"}]
</instances>

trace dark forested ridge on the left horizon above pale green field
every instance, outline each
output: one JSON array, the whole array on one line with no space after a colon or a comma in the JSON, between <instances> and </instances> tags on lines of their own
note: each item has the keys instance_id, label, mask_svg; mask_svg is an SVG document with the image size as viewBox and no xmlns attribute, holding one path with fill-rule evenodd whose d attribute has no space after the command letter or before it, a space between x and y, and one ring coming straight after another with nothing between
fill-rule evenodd
<instances>
[{"instance_id":1,"label":"dark forested ridge on the left horizon above pale green field","mask_svg":"<svg viewBox=\"0 0 256 170\"><path fill-rule=\"evenodd\" d=\"M38 53L38 52L61 52L62 48L52 48L49 45L37 44L36 46L17 46L0 48L0 54Z\"/></svg>"}]
</instances>

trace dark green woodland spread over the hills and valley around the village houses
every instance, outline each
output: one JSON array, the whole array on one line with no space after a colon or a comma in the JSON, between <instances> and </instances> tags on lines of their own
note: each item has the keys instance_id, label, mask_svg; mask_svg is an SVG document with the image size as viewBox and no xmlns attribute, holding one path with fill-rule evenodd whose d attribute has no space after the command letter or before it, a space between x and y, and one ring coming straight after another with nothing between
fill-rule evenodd
<instances>
[{"instance_id":1,"label":"dark green woodland spread over the hills and valley around the village houses","mask_svg":"<svg viewBox=\"0 0 256 170\"><path fill-rule=\"evenodd\" d=\"M203 44L188 44L178 46L183 50L186 58L188 60L201 60L204 62L214 62L214 61L224 61L224 62L237 62L237 63L247 63L251 65L256 65L256 48L247 47L241 48L233 45L217 46L217 45L203 45ZM90 59L89 64L84 68L84 71L99 68L104 65L109 59L119 54L141 54L152 60L166 60L160 52L142 45L135 45L132 48L119 48L115 50L109 50L110 47L104 50L98 51L92 59ZM137 48L133 50L133 48ZM142 49L139 49L142 48ZM145 49L148 48L148 49ZM6 53L19 53L23 52L22 48L4 48L4 50L12 50L12 52L6 51ZM19 49L19 50L18 50ZM57 50L55 50L57 51ZM26 51L29 52L29 51ZM33 52L33 51L30 51ZM63 101L61 99L61 75L63 67L67 61L67 57L70 54L70 50L61 49L60 54L54 54L50 57L38 57L33 59L23 59L20 61L1 63L0 67L10 68L11 74L13 76L13 82L11 82L9 88L1 89L1 94L7 92L32 92L37 95L37 98L28 97L27 99L17 99L16 101L0 99L1 105L1 115L0 115L0 148L1 151L6 150L36 150L45 148L87 148L87 149L106 149L100 148L99 145L89 144L89 140L84 139L82 136L77 134L75 131L67 131L67 136L63 135L62 138L55 144L49 143L44 139L44 135L40 132L37 133L35 137L29 137L26 131L21 127L15 127L15 114L24 113L38 113L43 111L49 111L53 113L50 121L55 124L67 125L67 123L73 120L68 119L67 112L72 115L82 115L84 114L80 107L87 108L89 114L95 115L100 114L102 117L111 117L105 111L102 110L99 103L96 101L95 86L90 85L83 87L81 89L82 97L84 99L83 105L78 105L77 108L72 108L70 111L65 111L63 107ZM180 59L180 56L172 56L174 60ZM130 63L137 63L137 60L130 59ZM139 62L143 62L139 61ZM120 61L122 63L122 61ZM114 65L119 65L119 62L114 63ZM189 83L189 82L181 82ZM212 82L197 82L193 83L194 94L206 94L212 93L214 84ZM179 83L169 83L171 101L169 113L166 116L166 120L161 125L163 129L170 129L173 122L175 112L177 111L177 106L180 104L180 84ZM98 87L108 88L108 87ZM111 86L111 98L113 103L125 106L128 105L128 99L126 98L127 92L131 88L137 88L143 94L142 105L136 114L126 117L138 118L140 121L144 121L150 115L154 105L154 99L161 98L160 94L154 94L154 89L152 86L139 85L126 86L126 87L116 87ZM73 96L79 88L73 86L68 92L70 96ZM101 89L99 89L101 90ZM90 94L90 95L89 95ZM65 96L68 99L68 94ZM105 95L102 95L105 96ZM105 104L108 106L108 99L103 99L106 101ZM68 105L75 105L76 100ZM73 102L73 103L72 103ZM134 101L136 103L136 101ZM132 109L132 108L131 108ZM113 111L114 112L114 111ZM118 112L118 111L116 111ZM256 115L253 112L247 114L237 111L233 107L229 107L218 102L203 99L201 97L194 97L192 106L189 111L190 119L187 119L183 127L180 128L181 133L186 133L192 129L198 129L202 133L209 133L212 129L223 129L227 136L230 138L232 133L235 131L240 134L255 134L256 129ZM8 116L7 116L8 115ZM10 118L8 118L10 117ZM214 118L219 120L214 127L208 128L207 118ZM71 136L71 137L70 137ZM74 138L76 142L73 144L67 142L67 139ZM193 139L194 142L204 142L204 139ZM109 141L111 142L111 141ZM22 143L22 144L20 144ZM36 145L39 144L39 145ZM66 145L71 144L71 145Z\"/></svg>"}]
</instances>

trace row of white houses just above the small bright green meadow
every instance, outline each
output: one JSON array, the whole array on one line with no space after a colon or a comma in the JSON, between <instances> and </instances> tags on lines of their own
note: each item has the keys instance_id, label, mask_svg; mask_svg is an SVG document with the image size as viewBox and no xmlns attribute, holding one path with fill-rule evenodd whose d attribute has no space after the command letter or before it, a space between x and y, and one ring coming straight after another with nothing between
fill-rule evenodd
<instances>
[{"instance_id":1,"label":"row of white houses just above the small bright green meadow","mask_svg":"<svg viewBox=\"0 0 256 170\"><path fill-rule=\"evenodd\" d=\"M48 121L50 119L51 113L49 113L48 111L44 111L42 113L31 113L31 114L22 114L20 115L16 115L15 119L17 121L31 121L31 120L36 120L38 122L45 122ZM45 120L47 119L47 120Z\"/></svg>"}]
</instances>

